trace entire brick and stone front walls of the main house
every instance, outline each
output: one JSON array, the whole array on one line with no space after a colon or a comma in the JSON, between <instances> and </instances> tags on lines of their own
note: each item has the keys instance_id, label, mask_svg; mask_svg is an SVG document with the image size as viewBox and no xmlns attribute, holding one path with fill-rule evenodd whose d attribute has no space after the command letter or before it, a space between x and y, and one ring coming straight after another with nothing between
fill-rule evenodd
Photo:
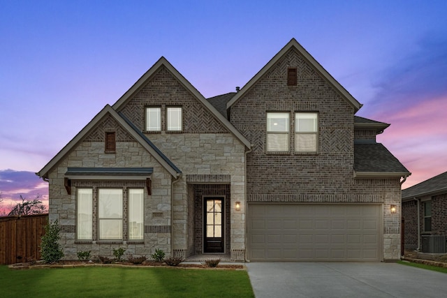
<instances>
[{"instance_id":1,"label":"entire brick and stone front walls of the main house","mask_svg":"<svg viewBox=\"0 0 447 298\"><path fill-rule=\"evenodd\" d=\"M78 251L110 257L117 247L134 255L150 255L156 248L183 258L203 253L203 198L213 195L224 199L225 253L231 260L246 258L247 206L256 202L381 204L383 260L400 258L400 208L390 214L391 204L400 207L400 177L353 177L354 140L375 140L376 132L354 127L356 107L298 48L284 52L244 91L230 107L230 123L210 109L167 61L156 65L45 173L50 180L50 219L61 223L66 259L77 258ZM297 70L295 86L287 84L290 67ZM182 107L182 131L166 130L166 108L172 106ZM145 107L160 107L161 131L145 131ZM290 114L288 152L266 152L267 112ZM318 113L315 153L294 150L295 112ZM116 151L106 153L105 133L110 131L116 134ZM150 151L146 145L156 149ZM160 156L181 174L173 174ZM152 193L146 191L146 181L96 177L74 180L69 195L64 185L68 167L152 168ZM79 187L145 188L144 239L127 239L124 215L123 239L98 241L95 195L93 239L76 239ZM240 202L240 210L235 210L235 202ZM124 214L127 207L124 192Z\"/></svg>"}]
</instances>

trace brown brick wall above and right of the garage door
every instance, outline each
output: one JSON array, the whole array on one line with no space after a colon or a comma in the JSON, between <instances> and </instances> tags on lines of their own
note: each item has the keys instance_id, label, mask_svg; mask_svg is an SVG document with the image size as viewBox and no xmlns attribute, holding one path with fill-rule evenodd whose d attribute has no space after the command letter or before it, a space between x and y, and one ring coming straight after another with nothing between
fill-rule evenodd
<instances>
[{"instance_id":1,"label":"brown brick wall above and right of the garage door","mask_svg":"<svg viewBox=\"0 0 447 298\"><path fill-rule=\"evenodd\" d=\"M297 86L287 86L296 67ZM290 151L265 150L267 112L290 113ZM318 152L294 151L294 113L318 112ZM247 202L383 204L383 258L400 258L400 179L354 179L354 110L294 49L230 109L230 121L254 144L247 154ZM372 140L366 131L356 137Z\"/></svg>"}]
</instances>

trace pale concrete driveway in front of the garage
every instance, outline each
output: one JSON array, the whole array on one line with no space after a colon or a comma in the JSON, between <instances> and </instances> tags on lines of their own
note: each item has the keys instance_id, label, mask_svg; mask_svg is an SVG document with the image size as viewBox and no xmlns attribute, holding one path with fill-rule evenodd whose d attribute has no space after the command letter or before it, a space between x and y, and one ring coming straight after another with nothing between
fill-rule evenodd
<instances>
[{"instance_id":1,"label":"pale concrete driveway in front of the garage","mask_svg":"<svg viewBox=\"0 0 447 298\"><path fill-rule=\"evenodd\" d=\"M250 262L256 298L447 297L447 274L397 263Z\"/></svg>"}]
</instances>

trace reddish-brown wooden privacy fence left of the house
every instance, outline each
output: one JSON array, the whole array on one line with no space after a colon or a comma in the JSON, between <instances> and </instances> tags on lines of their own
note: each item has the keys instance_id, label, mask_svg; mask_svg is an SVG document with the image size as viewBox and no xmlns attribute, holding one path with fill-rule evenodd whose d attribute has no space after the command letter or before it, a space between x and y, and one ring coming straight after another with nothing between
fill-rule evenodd
<instances>
[{"instance_id":1,"label":"reddish-brown wooden privacy fence left of the house","mask_svg":"<svg viewBox=\"0 0 447 298\"><path fill-rule=\"evenodd\" d=\"M40 260L48 214L0 217L0 264Z\"/></svg>"}]
</instances>

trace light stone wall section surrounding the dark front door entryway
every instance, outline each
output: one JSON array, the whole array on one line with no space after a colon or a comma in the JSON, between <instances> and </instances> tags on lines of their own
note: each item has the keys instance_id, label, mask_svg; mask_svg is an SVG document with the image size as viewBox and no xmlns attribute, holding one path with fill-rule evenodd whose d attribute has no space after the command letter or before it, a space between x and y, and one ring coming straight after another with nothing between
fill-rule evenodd
<instances>
[{"instance_id":1,"label":"light stone wall section surrounding the dark front door entryway","mask_svg":"<svg viewBox=\"0 0 447 298\"><path fill-rule=\"evenodd\" d=\"M186 258L196 246L191 245L191 223L197 210L191 210L190 184L229 184L231 202L245 204L245 156L244 145L229 133L159 133L148 135L150 140L182 170L182 178L174 184L173 196L173 249L175 254ZM193 177L188 181L188 177ZM208 177L202 181L200 177ZM222 181L219 177L228 177ZM231 249L244 251L244 211L230 209ZM194 227L196 225L194 224ZM196 235L197 237L197 235ZM243 260L243 259L242 259Z\"/></svg>"}]
</instances>

